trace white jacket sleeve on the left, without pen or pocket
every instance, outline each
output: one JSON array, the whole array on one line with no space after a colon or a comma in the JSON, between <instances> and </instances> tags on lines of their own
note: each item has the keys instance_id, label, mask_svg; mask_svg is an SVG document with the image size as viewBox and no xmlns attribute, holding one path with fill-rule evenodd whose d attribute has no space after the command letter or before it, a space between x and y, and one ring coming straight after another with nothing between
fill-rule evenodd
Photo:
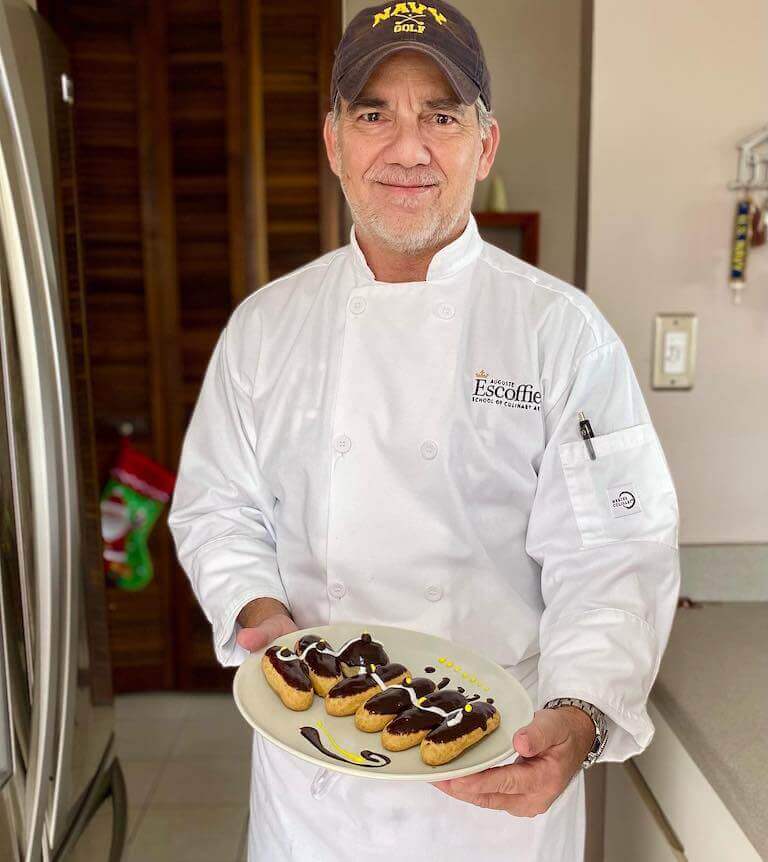
<instances>
[{"instance_id":1,"label":"white jacket sleeve on the left, without pen or pocket","mask_svg":"<svg viewBox=\"0 0 768 862\"><path fill-rule=\"evenodd\" d=\"M255 453L251 398L219 338L187 428L168 525L179 561L213 627L216 658L239 665L236 617L252 599L289 607L277 566L275 498Z\"/></svg>"}]
</instances>

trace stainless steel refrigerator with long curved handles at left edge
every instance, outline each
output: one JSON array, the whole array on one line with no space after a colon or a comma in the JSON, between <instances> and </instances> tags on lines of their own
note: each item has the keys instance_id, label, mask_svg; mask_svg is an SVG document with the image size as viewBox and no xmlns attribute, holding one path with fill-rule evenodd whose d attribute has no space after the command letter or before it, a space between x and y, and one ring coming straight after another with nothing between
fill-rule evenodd
<instances>
[{"instance_id":1,"label":"stainless steel refrigerator with long curved handles at left edge","mask_svg":"<svg viewBox=\"0 0 768 862\"><path fill-rule=\"evenodd\" d=\"M113 707L93 696L85 612L67 326L79 238L61 203L73 98L46 22L1 0L0 862L118 860L125 839Z\"/></svg>"}]
</instances>

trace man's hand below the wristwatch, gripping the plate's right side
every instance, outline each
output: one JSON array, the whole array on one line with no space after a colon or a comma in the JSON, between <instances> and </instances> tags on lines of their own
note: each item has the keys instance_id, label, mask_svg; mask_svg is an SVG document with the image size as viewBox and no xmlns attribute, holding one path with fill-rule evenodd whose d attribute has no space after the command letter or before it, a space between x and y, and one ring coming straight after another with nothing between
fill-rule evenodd
<instances>
[{"instance_id":1,"label":"man's hand below the wristwatch, gripping the plate's right side","mask_svg":"<svg viewBox=\"0 0 768 862\"><path fill-rule=\"evenodd\" d=\"M462 802L536 817L565 790L594 741L595 725L578 707L540 709L512 738L517 762L431 783Z\"/></svg>"}]
</instances>

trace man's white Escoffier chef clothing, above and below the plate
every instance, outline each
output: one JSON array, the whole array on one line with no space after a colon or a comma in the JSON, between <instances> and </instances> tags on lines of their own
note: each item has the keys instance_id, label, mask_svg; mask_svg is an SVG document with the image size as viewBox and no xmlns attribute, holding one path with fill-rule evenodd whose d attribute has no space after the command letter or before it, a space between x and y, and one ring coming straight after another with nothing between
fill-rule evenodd
<instances>
[{"instance_id":1,"label":"man's white Escoffier chef clothing, above and below the plate","mask_svg":"<svg viewBox=\"0 0 768 862\"><path fill-rule=\"evenodd\" d=\"M425 281L377 281L353 227L239 305L169 523L222 665L248 654L241 608L271 596L302 629L354 620L466 643L537 708L587 700L608 717L604 761L651 741L680 581L665 456L592 300L484 242L472 216ZM249 862L583 858L581 772L536 818L346 775L315 799L316 773L254 736Z\"/></svg>"}]
</instances>

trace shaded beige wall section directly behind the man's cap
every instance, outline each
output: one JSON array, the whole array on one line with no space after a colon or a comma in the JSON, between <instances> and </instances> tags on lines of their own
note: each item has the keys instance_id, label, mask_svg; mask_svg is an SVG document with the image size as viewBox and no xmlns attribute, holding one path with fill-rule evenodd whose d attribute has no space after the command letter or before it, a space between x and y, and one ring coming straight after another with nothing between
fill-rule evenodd
<instances>
[{"instance_id":1,"label":"shaded beige wall section directly behind the man's cap","mask_svg":"<svg viewBox=\"0 0 768 862\"><path fill-rule=\"evenodd\" d=\"M371 0L344 0L344 24ZM581 0L453 0L474 25L501 127L509 208L541 213L539 266L573 280ZM438 4L439 6L439 4ZM485 209L489 180L473 209Z\"/></svg>"}]
</instances>

